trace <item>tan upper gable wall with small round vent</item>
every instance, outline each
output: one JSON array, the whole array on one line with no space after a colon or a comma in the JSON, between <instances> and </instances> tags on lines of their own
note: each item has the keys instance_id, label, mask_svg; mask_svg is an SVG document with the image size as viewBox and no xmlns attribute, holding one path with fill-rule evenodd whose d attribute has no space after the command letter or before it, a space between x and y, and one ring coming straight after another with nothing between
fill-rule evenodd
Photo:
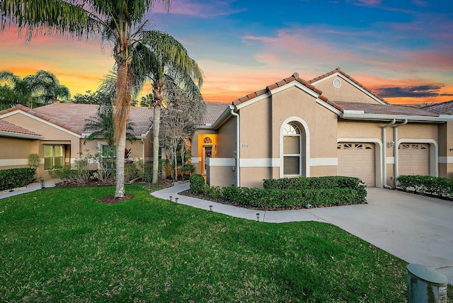
<instances>
[{"instance_id":1,"label":"tan upper gable wall with small round vent","mask_svg":"<svg viewBox=\"0 0 453 303\"><path fill-rule=\"evenodd\" d=\"M333 79L340 79L341 86L340 88L335 88L332 85ZM316 88L320 89L323 93L323 96L326 96L329 100L332 101L348 101L348 102L357 102L357 103L377 103L374 98L367 95L360 89L357 89L354 85L350 84L345 79L340 78L340 76L328 77L321 80L318 84L315 85Z\"/></svg>"}]
</instances>

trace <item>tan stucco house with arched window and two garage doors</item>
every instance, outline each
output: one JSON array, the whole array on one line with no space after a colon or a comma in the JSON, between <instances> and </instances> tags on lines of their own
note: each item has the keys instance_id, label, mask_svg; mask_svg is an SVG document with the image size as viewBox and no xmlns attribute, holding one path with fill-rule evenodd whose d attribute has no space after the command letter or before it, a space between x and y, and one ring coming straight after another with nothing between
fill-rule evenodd
<instances>
[{"instance_id":1,"label":"tan stucco house with arched window and two garage doors","mask_svg":"<svg viewBox=\"0 0 453 303\"><path fill-rule=\"evenodd\" d=\"M207 112L192 163L210 185L357 176L393 187L403 174L453 177L453 101L389 105L339 68L310 81L293 74L231 104L207 103Z\"/></svg>"}]
</instances>

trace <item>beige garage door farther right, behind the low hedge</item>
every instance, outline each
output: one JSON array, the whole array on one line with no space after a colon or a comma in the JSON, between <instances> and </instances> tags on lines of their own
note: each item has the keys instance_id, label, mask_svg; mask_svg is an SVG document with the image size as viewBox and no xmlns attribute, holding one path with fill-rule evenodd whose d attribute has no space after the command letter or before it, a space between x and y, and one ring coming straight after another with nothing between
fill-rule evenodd
<instances>
[{"instance_id":1,"label":"beige garage door farther right, behind the low hedge","mask_svg":"<svg viewBox=\"0 0 453 303\"><path fill-rule=\"evenodd\" d=\"M398 174L430 175L430 144L404 143L398 145Z\"/></svg>"}]
</instances>

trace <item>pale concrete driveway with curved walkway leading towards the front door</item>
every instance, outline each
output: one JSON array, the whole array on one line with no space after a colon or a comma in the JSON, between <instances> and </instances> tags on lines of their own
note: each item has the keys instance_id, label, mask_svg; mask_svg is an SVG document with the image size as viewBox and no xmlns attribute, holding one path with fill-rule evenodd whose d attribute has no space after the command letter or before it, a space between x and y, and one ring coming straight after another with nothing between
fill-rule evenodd
<instances>
[{"instance_id":1,"label":"pale concrete driveway with curved walkway leading towards the front door","mask_svg":"<svg viewBox=\"0 0 453 303\"><path fill-rule=\"evenodd\" d=\"M151 195L260 222L318 221L334 224L408 263L436 268L453 284L453 202L384 188L367 188L368 204L263 212L178 195L188 183Z\"/></svg>"}]
</instances>

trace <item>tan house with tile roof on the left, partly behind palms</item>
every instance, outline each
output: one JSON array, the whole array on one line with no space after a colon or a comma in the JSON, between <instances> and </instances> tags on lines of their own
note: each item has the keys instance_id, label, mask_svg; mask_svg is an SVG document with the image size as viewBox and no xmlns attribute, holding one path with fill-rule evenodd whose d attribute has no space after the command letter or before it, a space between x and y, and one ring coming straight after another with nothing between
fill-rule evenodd
<instances>
[{"instance_id":1,"label":"tan house with tile roof on the left, partly behind palms","mask_svg":"<svg viewBox=\"0 0 453 303\"><path fill-rule=\"evenodd\" d=\"M28 166L30 154L38 154L38 176L49 178L54 166L69 165L89 151L95 154L108 147L102 138L84 144L86 119L96 117L98 105L54 103L40 108L16 105L0 111L0 169ZM131 107L134 142L126 142L132 158L152 159L150 108Z\"/></svg>"}]
</instances>

